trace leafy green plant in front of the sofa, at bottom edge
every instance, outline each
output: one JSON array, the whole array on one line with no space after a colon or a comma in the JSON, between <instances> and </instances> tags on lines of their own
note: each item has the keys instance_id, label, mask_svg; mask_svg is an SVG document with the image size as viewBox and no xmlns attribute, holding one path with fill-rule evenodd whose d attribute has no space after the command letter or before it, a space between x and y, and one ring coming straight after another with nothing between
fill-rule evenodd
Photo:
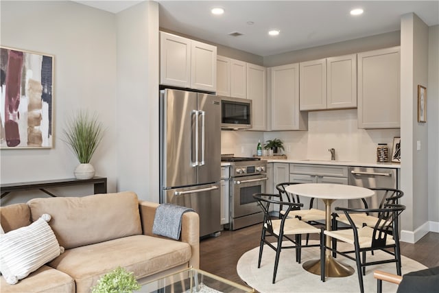
<instances>
[{"instance_id":1,"label":"leafy green plant in front of the sofa, at bottom edge","mask_svg":"<svg viewBox=\"0 0 439 293\"><path fill-rule=\"evenodd\" d=\"M97 284L91 288L91 292L132 293L134 290L139 290L140 288L141 286L137 283L133 273L119 266L97 280Z\"/></svg>"}]
</instances>

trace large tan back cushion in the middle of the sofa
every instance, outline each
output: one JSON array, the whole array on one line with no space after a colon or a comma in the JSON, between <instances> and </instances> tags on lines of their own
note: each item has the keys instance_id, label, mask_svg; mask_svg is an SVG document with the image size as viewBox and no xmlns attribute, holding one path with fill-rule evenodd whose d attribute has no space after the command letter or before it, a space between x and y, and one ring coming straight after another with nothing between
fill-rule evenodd
<instances>
[{"instance_id":1,"label":"large tan back cushion in the middle of the sofa","mask_svg":"<svg viewBox=\"0 0 439 293\"><path fill-rule=\"evenodd\" d=\"M34 198L32 220L52 216L50 226L66 249L142 233L139 201L134 192L75 198Z\"/></svg>"}]
</instances>

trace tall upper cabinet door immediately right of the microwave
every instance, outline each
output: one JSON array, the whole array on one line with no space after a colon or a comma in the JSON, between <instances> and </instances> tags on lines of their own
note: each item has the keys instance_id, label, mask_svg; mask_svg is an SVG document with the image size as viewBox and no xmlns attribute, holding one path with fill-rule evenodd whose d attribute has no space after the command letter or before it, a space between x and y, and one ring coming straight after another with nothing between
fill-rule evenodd
<instances>
[{"instance_id":1,"label":"tall upper cabinet door immediately right of the microwave","mask_svg":"<svg viewBox=\"0 0 439 293\"><path fill-rule=\"evenodd\" d=\"M247 63L247 99L252 100L252 129L267 130L267 75L265 67Z\"/></svg>"}]
</instances>

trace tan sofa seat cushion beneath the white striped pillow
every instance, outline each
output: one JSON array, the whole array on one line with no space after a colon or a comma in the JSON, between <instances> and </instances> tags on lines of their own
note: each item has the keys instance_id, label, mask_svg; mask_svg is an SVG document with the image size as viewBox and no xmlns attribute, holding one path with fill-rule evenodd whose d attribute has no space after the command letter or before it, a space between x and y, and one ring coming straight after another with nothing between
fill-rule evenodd
<instances>
[{"instance_id":1,"label":"tan sofa seat cushion beneath the white striped pillow","mask_svg":"<svg viewBox=\"0 0 439 293\"><path fill-rule=\"evenodd\" d=\"M75 281L64 272L42 266L15 285L10 285L5 279L0 278L0 288L2 293L75 293Z\"/></svg>"}]
</instances>

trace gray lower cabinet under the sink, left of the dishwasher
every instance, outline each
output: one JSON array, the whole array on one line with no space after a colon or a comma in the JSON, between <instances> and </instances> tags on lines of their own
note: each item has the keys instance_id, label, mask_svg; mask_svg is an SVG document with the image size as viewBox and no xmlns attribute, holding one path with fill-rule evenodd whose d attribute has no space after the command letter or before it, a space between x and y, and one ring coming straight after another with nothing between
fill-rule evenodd
<instances>
[{"instance_id":1,"label":"gray lower cabinet under the sink, left of the dishwasher","mask_svg":"<svg viewBox=\"0 0 439 293\"><path fill-rule=\"evenodd\" d=\"M293 183L331 183L348 184L348 167L338 165L311 165L311 164L289 164L289 182ZM305 208L309 208L311 198L300 197L300 202ZM332 210L335 207L348 207L348 200L335 200ZM324 203L321 200L314 200L313 208L324 210Z\"/></svg>"}]
</instances>

